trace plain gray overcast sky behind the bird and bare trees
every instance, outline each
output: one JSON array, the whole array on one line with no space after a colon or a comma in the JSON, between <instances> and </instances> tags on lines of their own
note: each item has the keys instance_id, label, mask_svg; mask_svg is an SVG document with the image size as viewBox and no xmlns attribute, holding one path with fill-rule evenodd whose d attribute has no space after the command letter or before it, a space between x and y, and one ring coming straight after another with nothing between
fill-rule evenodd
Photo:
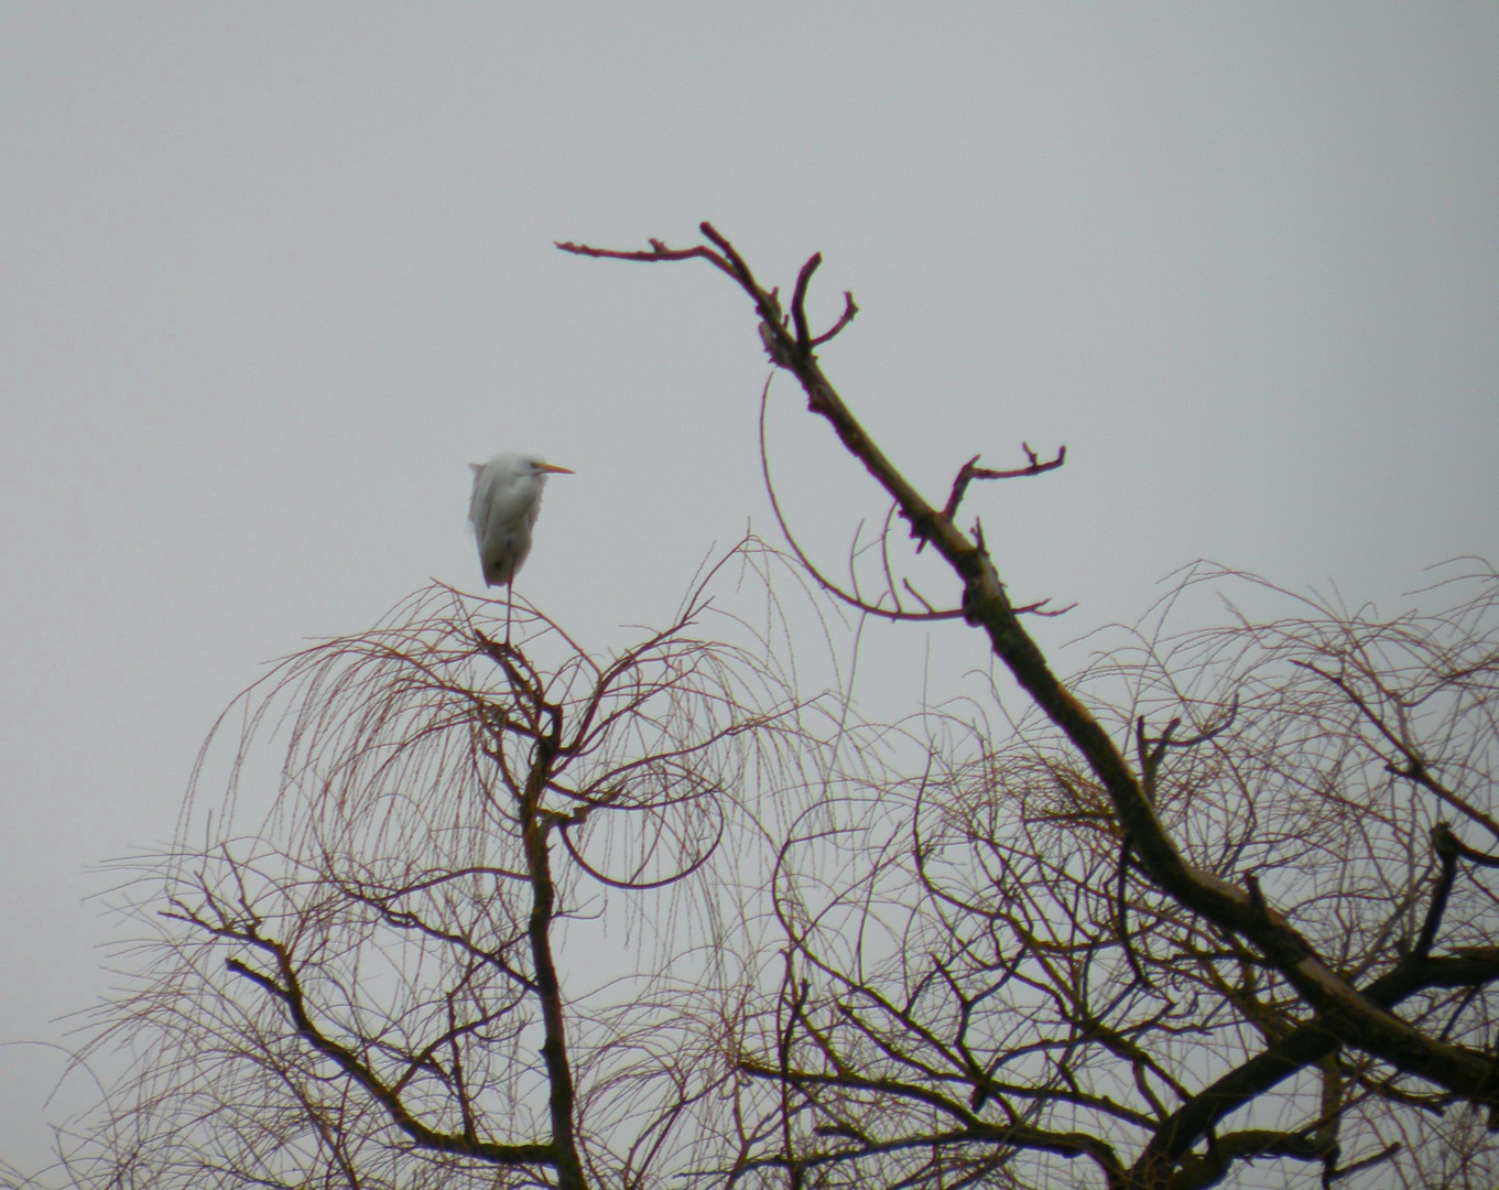
<instances>
[{"instance_id":1,"label":"plain gray overcast sky behind the bird and bare trees","mask_svg":"<svg viewBox=\"0 0 1499 1190\"><path fill-rule=\"evenodd\" d=\"M1201 556L1394 607L1496 553L1492 3L10 0L0 145L0 1039L106 986L97 865L262 662L478 585L465 463L576 468L522 589L600 647L770 531L748 304L553 240L820 249L827 372L937 493L1066 442L973 501L1055 640ZM841 556L881 505L772 423ZM0 1049L0 1156L58 1069Z\"/></svg>"}]
</instances>

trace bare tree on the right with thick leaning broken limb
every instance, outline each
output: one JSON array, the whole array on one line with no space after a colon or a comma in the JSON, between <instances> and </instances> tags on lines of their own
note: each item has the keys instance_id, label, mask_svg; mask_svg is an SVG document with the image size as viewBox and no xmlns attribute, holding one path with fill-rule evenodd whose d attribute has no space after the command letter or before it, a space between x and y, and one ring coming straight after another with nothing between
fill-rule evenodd
<instances>
[{"instance_id":1,"label":"bare tree on the right with thick leaning broken limb","mask_svg":"<svg viewBox=\"0 0 1499 1190\"><path fill-rule=\"evenodd\" d=\"M742 1147L739 1169L781 1168L793 1184L871 1169L902 1186L1055 1184L1048 1160L1016 1159L1043 1154L1087 1159L1114 1187L1189 1187L1246 1160L1292 1159L1319 1163L1331 1184L1399 1148L1345 1162L1340 1126L1354 1115L1390 1111L1409 1129L1417 1117L1397 1106L1499 1112L1486 995L1499 947L1480 878L1499 866L1493 573L1436 620L1316 608L1312 620L1166 641L1165 655L1148 641L1105 668L1133 686L1111 713L1087 697L1091 676L1057 677L1021 619L1045 605L1016 605L982 526L956 522L973 480L1037 475L1064 453L1043 463L1025 447L1012 471L974 459L944 504L925 499L817 358L857 313L853 295L815 334L805 303L818 255L785 312L729 240L709 223L702 232L688 249L559 247L703 259L729 276L754 303L772 363L893 501L917 549L949 564L962 598L914 608L886 567L871 602L799 556L866 614L961 614L1043 719L1009 751L977 728L962 766L932 749L904 787L905 848L821 826L787 841L785 985L742 1064L776 1087L782 1127ZM866 859L856 878L809 889L824 860L797 853L850 839ZM1264 1103L1288 1081L1285 1102ZM1252 1105L1267 1127L1220 1132ZM853 1172L829 1172L838 1166Z\"/></svg>"}]
</instances>

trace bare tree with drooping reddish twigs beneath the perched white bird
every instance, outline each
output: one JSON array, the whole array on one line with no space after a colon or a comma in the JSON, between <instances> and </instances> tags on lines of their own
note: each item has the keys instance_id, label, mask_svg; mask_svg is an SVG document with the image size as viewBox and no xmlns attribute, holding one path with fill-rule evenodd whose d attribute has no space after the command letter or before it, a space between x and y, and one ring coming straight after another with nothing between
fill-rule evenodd
<instances>
[{"instance_id":1,"label":"bare tree with drooping reddish twigs beneath the perched white bird","mask_svg":"<svg viewBox=\"0 0 1499 1190\"><path fill-rule=\"evenodd\" d=\"M439 586L252 689L231 794L280 725L274 806L240 838L195 820L199 844L145 865L162 932L91 1051L135 1070L73 1132L72 1180L649 1183L723 1070L688 1048L679 986L726 980L711 947L624 965L652 922L604 896L721 932L717 902L672 893L732 881L736 803L800 710L767 653L693 635L709 614L699 588L601 659L537 614L511 647L508 601Z\"/></svg>"}]
</instances>

